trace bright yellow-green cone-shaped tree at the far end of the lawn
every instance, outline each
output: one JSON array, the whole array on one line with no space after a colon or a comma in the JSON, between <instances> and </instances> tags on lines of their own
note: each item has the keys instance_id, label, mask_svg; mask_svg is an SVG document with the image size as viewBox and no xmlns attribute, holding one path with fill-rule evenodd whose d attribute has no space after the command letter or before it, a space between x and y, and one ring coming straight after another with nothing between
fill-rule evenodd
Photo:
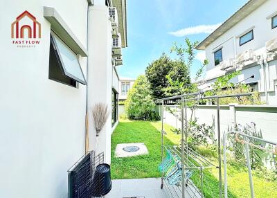
<instances>
[{"instance_id":1,"label":"bright yellow-green cone-shaped tree at the far end of the lawn","mask_svg":"<svg viewBox=\"0 0 277 198\"><path fill-rule=\"evenodd\" d=\"M127 100L125 100L127 117L130 119L159 120L154 108L150 83L145 75L139 75L134 86L128 92Z\"/></svg>"}]
</instances>

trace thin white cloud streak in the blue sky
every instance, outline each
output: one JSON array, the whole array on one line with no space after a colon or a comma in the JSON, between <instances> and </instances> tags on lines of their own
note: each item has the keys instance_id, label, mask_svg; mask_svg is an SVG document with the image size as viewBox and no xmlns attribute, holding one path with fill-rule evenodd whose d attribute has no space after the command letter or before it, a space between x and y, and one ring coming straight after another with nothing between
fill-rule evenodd
<instances>
[{"instance_id":1,"label":"thin white cloud streak in the blue sky","mask_svg":"<svg viewBox=\"0 0 277 198\"><path fill-rule=\"evenodd\" d=\"M221 24L194 26L194 27L177 30L175 32L170 32L169 34L174 35L175 37L184 37L186 35L197 35L201 33L210 34L210 33L213 33L213 31L216 28L218 28L220 25Z\"/></svg>"}]
</instances>

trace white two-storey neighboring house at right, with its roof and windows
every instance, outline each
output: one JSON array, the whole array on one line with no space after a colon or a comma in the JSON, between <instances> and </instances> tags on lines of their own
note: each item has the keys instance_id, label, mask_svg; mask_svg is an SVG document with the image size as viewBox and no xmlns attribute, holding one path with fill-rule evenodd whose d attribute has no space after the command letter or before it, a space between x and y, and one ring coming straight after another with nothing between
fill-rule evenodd
<instances>
[{"instance_id":1,"label":"white two-storey neighboring house at right, with its roof and windows","mask_svg":"<svg viewBox=\"0 0 277 198\"><path fill-rule=\"evenodd\" d=\"M277 105L276 5L276 0L248 1L196 47L206 51L208 60L200 89L226 73L241 71L232 82L250 84L267 104Z\"/></svg>"}]
</instances>

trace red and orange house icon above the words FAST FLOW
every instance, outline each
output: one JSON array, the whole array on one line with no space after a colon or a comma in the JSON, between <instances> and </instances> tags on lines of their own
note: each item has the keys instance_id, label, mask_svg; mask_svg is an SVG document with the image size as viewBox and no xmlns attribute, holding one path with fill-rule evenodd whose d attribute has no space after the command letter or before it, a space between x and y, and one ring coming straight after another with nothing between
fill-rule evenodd
<instances>
[{"instance_id":1,"label":"red and orange house icon above the words FAST FLOW","mask_svg":"<svg viewBox=\"0 0 277 198\"><path fill-rule=\"evenodd\" d=\"M26 20L23 21L25 17L28 17L30 19L30 22L27 24ZM28 38L35 39L35 38L40 38L42 36L42 30L41 30L41 25L37 21L37 19L30 14L27 10L22 12L21 15L17 17L17 19L12 23L12 39L16 38L24 38L24 33L28 33Z\"/></svg>"}]
</instances>

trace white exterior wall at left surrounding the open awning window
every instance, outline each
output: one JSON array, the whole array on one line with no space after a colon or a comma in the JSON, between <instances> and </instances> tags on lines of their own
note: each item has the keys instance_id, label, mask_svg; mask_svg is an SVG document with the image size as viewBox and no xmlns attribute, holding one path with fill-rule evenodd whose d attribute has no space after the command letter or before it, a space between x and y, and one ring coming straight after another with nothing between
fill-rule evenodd
<instances>
[{"instance_id":1,"label":"white exterior wall at left surrounding the open awning window","mask_svg":"<svg viewBox=\"0 0 277 198\"><path fill-rule=\"evenodd\" d=\"M0 197L67 197L67 170L84 154L86 87L48 79L53 7L87 46L87 1L5 1L0 6ZM28 10L42 24L35 48L12 44L10 26ZM87 58L80 58L86 76Z\"/></svg>"}]
</instances>

